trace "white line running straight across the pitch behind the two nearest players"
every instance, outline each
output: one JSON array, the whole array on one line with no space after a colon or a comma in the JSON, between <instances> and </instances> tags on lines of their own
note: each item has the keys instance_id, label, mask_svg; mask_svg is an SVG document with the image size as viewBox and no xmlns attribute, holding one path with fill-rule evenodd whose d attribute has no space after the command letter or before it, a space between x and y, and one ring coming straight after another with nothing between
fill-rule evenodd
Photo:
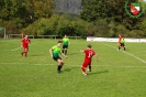
<instances>
[{"instance_id":1,"label":"white line running straight across the pitch behind the two nearest players","mask_svg":"<svg viewBox=\"0 0 146 97\"><path fill-rule=\"evenodd\" d=\"M36 63L0 63L1 65L36 65L36 66L56 66L57 64L36 64ZM65 64L65 66L70 67L79 67L81 65L68 65ZM93 67L117 67L117 68L146 68L146 66L115 66L115 65L92 65Z\"/></svg>"}]
</instances>

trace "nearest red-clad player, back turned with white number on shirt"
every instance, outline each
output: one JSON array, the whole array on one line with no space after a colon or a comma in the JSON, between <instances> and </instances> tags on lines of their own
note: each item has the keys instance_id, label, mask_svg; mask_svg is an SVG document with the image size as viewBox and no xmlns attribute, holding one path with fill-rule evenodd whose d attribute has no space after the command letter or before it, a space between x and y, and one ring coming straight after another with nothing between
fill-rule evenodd
<instances>
[{"instance_id":1,"label":"nearest red-clad player, back turned with white number on shirt","mask_svg":"<svg viewBox=\"0 0 146 97\"><path fill-rule=\"evenodd\" d=\"M82 73L83 73L85 76L87 75L87 72L86 72L87 66L89 66L89 72L91 72L92 56L94 55L96 56L96 60L98 60L96 52L91 48L92 46L90 44L88 44L87 47L88 48L86 48L83 51L80 51L80 52L86 53L85 62L81 65L81 71L82 71Z\"/></svg>"}]
</instances>

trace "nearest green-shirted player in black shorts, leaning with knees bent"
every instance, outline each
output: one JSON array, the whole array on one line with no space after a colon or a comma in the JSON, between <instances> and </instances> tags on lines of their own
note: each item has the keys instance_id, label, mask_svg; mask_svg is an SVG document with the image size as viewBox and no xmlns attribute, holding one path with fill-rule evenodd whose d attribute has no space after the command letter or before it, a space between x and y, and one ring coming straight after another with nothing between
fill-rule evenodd
<instances>
[{"instance_id":1,"label":"nearest green-shirted player in black shorts, leaning with knees bent","mask_svg":"<svg viewBox=\"0 0 146 97\"><path fill-rule=\"evenodd\" d=\"M53 47L49 50L50 56L52 56L56 62L58 62L58 67L57 67L57 72L58 72L58 73L60 73L60 69L61 69L61 67L63 67L63 65L64 65L64 62L63 62L63 60L59 57L59 54L61 54L64 57L67 58L67 56L64 55L64 54L61 53L60 46L61 46L61 41L58 41L57 45L53 46Z\"/></svg>"}]
</instances>

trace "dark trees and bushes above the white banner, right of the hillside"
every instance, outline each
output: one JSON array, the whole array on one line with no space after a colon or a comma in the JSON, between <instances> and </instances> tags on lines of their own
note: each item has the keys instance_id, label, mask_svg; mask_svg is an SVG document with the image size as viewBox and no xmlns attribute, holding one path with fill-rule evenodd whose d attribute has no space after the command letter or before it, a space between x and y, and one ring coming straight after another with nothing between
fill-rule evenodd
<instances>
[{"instance_id":1,"label":"dark trees and bushes above the white banner, right of the hillside","mask_svg":"<svg viewBox=\"0 0 146 97\"><path fill-rule=\"evenodd\" d=\"M137 0L131 0L131 2L136 1ZM89 35L114 37L121 33L124 36L137 37L137 34L131 35L132 33L130 31L135 32L138 30L138 32L141 32L138 36L145 36L143 32L143 30L145 30L144 22L142 26L139 25L141 22L146 19L146 14L143 14L139 19L132 19L126 14L124 7L124 0L82 0L80 18L93 22L93 24L89 26Z\"/></svg>"}]
</instances>

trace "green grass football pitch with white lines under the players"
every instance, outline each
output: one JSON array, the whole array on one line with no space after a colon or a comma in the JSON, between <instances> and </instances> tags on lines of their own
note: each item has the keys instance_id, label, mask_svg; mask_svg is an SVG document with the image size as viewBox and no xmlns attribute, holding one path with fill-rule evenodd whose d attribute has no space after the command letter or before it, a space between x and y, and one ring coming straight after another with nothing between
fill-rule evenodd
<instances>
[{"instance_id":1,"label":"green grass football pitch with white lines under the players","mask_svg":"<svg viewBox=\"0 0 146 97\"><path fill-rule=\"evenodd\" d=\"M146 44L126 43L126 51L116 43L70 40L63 73L48 50L57 40L31 40L29 57L21 56L21 40L0 40L0 97L145 97ZM92 44L98 62L83 76L80 50Z\"/></svg>"}]
</instances>

